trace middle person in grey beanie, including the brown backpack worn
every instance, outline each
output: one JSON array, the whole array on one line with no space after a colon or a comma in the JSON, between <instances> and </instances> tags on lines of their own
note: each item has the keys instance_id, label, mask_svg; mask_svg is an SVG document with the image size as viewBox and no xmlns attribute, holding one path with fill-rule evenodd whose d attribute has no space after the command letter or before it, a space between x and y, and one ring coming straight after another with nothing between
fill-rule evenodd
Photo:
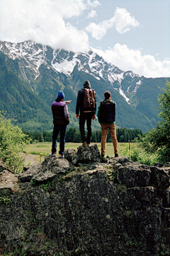
<instances>
[{"instance_id":1,"label":"middle person in grey beanie, including the brown backpack worn","mask_svg":"<svg viewBox=\"0 0 170 256\"><path fill-rule=\"evenodd\" d=\"M79 114L80 112L80 114ZM79 119L82 146L89 146L91 142L91 121L95 119L96 113L96 92L91 89L89 80L84 82L84 87L77 95L76 117ZM84 125L86 122L87 136Z\"/></svg>"}]
</instances>

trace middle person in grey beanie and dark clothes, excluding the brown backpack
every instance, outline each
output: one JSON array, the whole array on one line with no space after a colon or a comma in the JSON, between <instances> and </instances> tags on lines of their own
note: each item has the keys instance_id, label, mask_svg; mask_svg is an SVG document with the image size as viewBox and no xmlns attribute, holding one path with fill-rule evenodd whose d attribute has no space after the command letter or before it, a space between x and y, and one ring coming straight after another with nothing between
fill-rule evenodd
<instances>
[{"instance_id":1,"label":"middle person in grey beanie and dark clothes, excluding the brown backpack","mask_svg":"<svg viewBox=\"0 0 170 256\"><path fill-rule=\"evenodd\" d=\"M79 119L79 129L81 133L82 146L89 146L91 142L91 120L95 119L96 103L93 110L84 109L84 89L91 88L89 80L84 82L84 88L79 90L77 95L76 117ZM96 99L95 99L96 101ZM80 114L79 114L80 112ZM84 130L84 125L87 125L87 136Z\"/></svg>"}]
</instances>

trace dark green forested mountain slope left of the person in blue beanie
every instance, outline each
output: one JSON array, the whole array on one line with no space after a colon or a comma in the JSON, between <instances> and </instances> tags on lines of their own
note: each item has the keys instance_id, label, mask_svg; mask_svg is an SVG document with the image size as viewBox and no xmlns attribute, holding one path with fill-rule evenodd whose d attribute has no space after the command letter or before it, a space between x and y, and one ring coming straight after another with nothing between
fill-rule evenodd
<instances>
[{"instance_id":1,"label":"dark green forested mountain slope left of the person in blue beanie","mask_svg":"<svg viewBox=\"0 0 170 256\"><path fill-rule=\"evenodd\" d=\"M0 110L6 111L6 117L21 127L28 123L26 128L47 129L51 123L50 107L13 72L14 68L18 69L18 61L0 53L0 63Z\"/></svg>"}]
</instances>

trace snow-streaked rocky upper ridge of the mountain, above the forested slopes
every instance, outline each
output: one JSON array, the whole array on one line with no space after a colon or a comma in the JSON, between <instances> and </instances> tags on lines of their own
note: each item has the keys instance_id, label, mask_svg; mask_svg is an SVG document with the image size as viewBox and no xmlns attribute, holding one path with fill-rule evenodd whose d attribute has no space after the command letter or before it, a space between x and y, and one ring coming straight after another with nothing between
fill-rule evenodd
<instances>
[{"instance_id":1,"label":"snow-streaked rocky upper ridge of the mountain, above the forested slopes","mask_svg":"<svg viewBox=\"0 0 170 256\"><path fill-rule=\"evenodd\" d=\"M46 65L47 69L52 68L57 73L63 73L67 77L72 76L74 68L77 66L79 71L93 75L96 80L106 80L120 95L129 102L128 93L137 92L142 85L143 77L132 73L132 71L123 72L115 65L107 63L102 57L89 51L89 53L72 53L65 50L52 50L49 46L42 46L31 41L23 43L8 43L0 41L0 50L13 60L23 60L23 69L25 78L27 69L33 70L34 76L40 75L40 66ZM125 85L123 80L128 80Z\"/></svg>"}]
</instances>

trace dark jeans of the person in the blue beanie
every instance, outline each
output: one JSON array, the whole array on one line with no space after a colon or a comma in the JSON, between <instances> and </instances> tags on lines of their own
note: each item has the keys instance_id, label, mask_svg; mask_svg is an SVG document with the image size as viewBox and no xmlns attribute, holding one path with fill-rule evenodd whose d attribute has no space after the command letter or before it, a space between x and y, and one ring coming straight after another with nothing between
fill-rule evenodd
<instances>
[{"instance_id":1,"label":"dark jeans of the person in the blue beanie","mask_svg":"<svg viewBox=\"0 0 170 256\"><path fill-rule=\"evenodd\" d=\"M60 151L59 154L64 154L65 136L66 136L66 125L55 125L52 135L52 154L57 152L57 137L60 132Z\"/></svg>"}]
</instances>

